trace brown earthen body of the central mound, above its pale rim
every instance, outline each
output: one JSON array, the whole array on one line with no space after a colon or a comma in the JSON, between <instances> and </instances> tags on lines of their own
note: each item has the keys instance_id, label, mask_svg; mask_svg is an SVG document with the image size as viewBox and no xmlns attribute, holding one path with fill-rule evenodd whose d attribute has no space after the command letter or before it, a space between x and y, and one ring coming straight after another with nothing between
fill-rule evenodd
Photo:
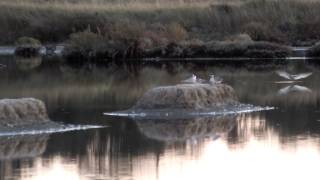
<instances>
[{"instance_id":1,"label":"brown earthen body of the central mound, above its pale rim","mask_svg":"<svg viewBox=\"0 0 320 180\"><path fill-rule=\"evenodd\" d=\"M233 88L226 84L178 84L147 91L133 109L203 110L238 104Z\"/></svg>"}]
</instances>

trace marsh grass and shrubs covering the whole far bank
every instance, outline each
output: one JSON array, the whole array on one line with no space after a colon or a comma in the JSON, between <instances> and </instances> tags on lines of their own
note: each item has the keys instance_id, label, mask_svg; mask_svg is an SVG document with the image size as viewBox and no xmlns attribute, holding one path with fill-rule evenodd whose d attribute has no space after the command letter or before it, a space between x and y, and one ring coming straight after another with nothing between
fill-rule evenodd
<instances>
[{"instance_id":1,"label":"marsh grass and shrubs covering the whole far bank","mask_svg":"<svg viewBox=\"0 0 320 180\"><path fill-rule=\"evenodd\" d=\"M222 42L214 57L274 58L286 57L288 51L270 54L270 46L260 43L263 52L248 52L248 42L310 46L320 39L317 0L1 0L0 8L1 44L23 36L44 44L66 43L67 56L76 59L212 56L198 51L212 42ZM231 50L230 42L236 42ZM172 43L195 52L163 53Z\"/></svg>"}]
</instances>

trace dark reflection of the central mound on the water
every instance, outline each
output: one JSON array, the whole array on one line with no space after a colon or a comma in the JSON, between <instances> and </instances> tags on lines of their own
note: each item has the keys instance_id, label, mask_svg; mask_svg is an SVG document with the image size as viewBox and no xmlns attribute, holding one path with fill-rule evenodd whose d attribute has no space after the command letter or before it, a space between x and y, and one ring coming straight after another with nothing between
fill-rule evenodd
<instances>
[{"instance_id":1,"label":"dark reflection of the central mound on the water","mask_svg":"<svg viewBox=\"0 0 320 180\"><path fill-rule=\"evenodd\" d=\"M234 116L194 119L136 120L140 132L159 141L185 141L228 133L236 123Z\"/></svg>"}]
</instances>

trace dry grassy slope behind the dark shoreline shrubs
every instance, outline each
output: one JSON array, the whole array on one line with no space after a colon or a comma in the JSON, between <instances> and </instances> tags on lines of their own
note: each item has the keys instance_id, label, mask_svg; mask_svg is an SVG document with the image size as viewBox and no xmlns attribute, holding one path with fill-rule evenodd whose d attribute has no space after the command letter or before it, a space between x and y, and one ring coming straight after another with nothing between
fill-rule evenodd
<instances>
[{"instance_id":1,"label":"dry grassy slope behind the dark shoreline shrubs","mask_svg":"<svg viewBox=\"0 0 320 180\"><path fill-rule=\"evenodd\" d=\"M287 45L320 39L320 1L39 2L0 1L1 44L13 44L21 36L64 42L70 34L88 29L110 40L148 38L154 44L226 40L240 33L254 41Z\"/></svg>"}]
</instances>

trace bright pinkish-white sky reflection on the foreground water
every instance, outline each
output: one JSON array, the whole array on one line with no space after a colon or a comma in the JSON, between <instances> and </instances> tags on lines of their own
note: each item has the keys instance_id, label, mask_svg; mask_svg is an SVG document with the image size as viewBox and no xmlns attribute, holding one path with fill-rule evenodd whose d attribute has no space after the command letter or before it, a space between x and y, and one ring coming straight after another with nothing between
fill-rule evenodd
<instances>
[{"instance_id":1,"label":"bright pinkish-white sky reflection on the foreground water","mask_svg":"<svg viewBox=\"0 0 320 180\"><path fill-rule=\"evenodd\" d=\"M262 135L256 136L257 129L266 128L263 118L249 116L242 117L238 121L241 122L237 133L242 133L246 137L244 144L230 145L226 141L228 138L226 136L217 140L206 139L201 145L187 144L184 154L177 154L169 148L160 156L158 167L156 158L152 154L132 157L130 176L137 180L319 179L318 139L307 137L297 139L294 144L284 145L280 142L277 132L272 129L265 129ZM241 129L246 130L240 132ZM191 151L196 147L201 149L194 154ZM88 156L94 156L94 153L89 153ZM61 158L55 158L48 165L37 161L34 168L35 174L32 178L23 179L78 180L108 177L107 174L90 176L88 170L82 168L79 170L77 161L70 163ZM108 172L107 169L110 168L108 162L104 168L105 172ZM119 174L114 179L128 179L128 176L121 177Z\"/></svg>"}]
</instances>

